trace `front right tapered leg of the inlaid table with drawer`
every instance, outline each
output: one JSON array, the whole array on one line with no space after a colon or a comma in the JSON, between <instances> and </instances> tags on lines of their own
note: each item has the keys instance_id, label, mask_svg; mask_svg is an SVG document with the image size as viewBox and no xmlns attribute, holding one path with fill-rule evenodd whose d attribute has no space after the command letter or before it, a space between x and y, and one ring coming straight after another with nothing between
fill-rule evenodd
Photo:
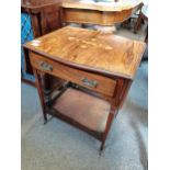
<instances>
[{"instance_id":1,"label":"front right tapered leg of the inlaid table with drawer","mask_svg":"<svg viewBox=\"0 0 170 170\"><path fill-rule=\"evenodd\" d=\"M113 117L114 117L115 113L116 113L116 110L112 109L109 116L107 116L106 126L105 126L105 131L104 131L104 134L103 134L103 137L102 137L102 144L101 144L101 147L100 147L100 151L102 151L103 148L104 148L104 144L105 144L107 134L110 132L110 128L111 128L111 125L112 125Z\"/></svg>"}]
</instances>

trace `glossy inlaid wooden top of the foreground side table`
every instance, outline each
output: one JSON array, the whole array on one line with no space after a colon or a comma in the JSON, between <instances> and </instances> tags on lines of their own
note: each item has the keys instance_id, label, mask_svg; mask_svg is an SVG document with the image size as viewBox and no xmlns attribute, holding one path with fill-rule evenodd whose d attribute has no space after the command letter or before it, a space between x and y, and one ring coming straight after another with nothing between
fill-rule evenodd
<instances>
[{"instance_id":1,"label":"glossy inlaid wooden top of the foreground side table","mask_svg":"<svg viewBox=\"0 0 170 170\"><path fill-rule=\"evenodd\" d=\"M71 67L133 79L146 44L99 31L66 26L23 46Z\"/></svg>"}]
</instances>

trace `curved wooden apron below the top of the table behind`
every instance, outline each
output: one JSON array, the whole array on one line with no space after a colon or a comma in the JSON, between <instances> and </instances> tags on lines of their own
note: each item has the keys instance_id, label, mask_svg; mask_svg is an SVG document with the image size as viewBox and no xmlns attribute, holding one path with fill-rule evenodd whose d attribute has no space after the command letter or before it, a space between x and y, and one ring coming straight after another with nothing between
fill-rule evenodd
<instances>
[{"instance_id":1,"label":"curved wooden apron below the top of the table behind","mask_svg":"<svg viewBox=\"0 0 170 170\"><path fill-rule=\"evenodd\" d=\"M114 23L120 23L127 20L132 14L133 14L133 9L123 10L123 11L104 12L104 11L98 11L98 10L63 8L61 21L66 23L73 22L73 23L113 26Z\"/></svg>"}]
</instances>

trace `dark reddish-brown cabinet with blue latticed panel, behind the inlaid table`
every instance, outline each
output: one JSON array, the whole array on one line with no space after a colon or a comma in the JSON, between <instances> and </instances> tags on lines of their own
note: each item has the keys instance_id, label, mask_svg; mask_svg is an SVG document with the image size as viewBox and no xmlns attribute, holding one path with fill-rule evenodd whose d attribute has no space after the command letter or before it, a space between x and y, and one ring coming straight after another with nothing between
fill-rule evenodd
<instances>
[{"instance_id":1,"label":"dark reddish-brown cabinet with blue latticed panel, behind the inlaid table","mask_svg":"<svg viewBox=\"0 0 170 170\"><path fill-rule=\"evenodd\" d=\"M21 1L21 44L42 36L61 26L59 18L58 0L22 0ZM25 67L27 60L21 49L21 75L22 81L35 86L32 67ZM25 52L26 54L26 52ZM59 83L58 79L44 75L44 90L46 92Z\"/></svg>"}]
</instances>

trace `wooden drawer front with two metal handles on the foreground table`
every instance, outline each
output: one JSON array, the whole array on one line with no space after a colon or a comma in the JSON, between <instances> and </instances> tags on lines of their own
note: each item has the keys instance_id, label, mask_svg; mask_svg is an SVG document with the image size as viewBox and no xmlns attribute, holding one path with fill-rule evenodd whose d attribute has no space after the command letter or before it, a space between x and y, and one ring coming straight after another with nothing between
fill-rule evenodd
<instances>
[{"instance_id":1,"label":"wooden drawer front with two metal handles on the foreground table","mask_svg":"<svg viewBox=\"0 0 170 170\"><path fill-rule=\"evenodd\" d=\"M31 64L43 72L75 82L90 90L109 97L114 94L116 81L113 79L71 68L34 53L31 53Z\"/></svg>"}]
</instances>

